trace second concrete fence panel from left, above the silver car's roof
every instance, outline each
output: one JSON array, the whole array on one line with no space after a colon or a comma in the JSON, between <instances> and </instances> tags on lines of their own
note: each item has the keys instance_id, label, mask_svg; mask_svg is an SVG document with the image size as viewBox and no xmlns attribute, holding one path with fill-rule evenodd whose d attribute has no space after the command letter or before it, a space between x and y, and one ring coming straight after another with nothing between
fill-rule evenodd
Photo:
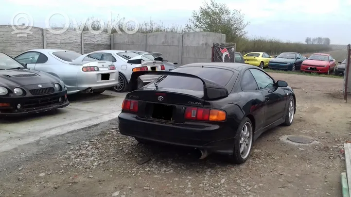
<instances>
[{"instance_id":1,"label":"second concrete fence panel from left, above the silver car's roof","mask_svg":"<svg viewBox=\"0 0 351 197\"><path fill-rule=\"evenodd\" d=\"M46 48L45 49L66 49L78 53L82 52L81 34L75 30L67 30L61 34L53 34L45 30Z\"/></svg>"}]
</instances>

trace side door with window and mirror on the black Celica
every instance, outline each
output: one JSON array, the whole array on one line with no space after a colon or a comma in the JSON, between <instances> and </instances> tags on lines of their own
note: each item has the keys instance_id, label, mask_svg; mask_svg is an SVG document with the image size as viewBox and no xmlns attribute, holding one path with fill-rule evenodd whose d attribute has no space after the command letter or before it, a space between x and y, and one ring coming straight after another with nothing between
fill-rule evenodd
<instances>
[{"instance_id":1,"label":"side door with window and mirror on the black Celica","mask_svg":"<svg viewBox=\"0 0 351 197\"><path fill-rule=\"evenodd\" d=\"M275 86L275 81L263 71L256 68L251 68L250 71L264 97L264 126L268 126L284 115L285 92Z\"/></svg>"}]
</instances>

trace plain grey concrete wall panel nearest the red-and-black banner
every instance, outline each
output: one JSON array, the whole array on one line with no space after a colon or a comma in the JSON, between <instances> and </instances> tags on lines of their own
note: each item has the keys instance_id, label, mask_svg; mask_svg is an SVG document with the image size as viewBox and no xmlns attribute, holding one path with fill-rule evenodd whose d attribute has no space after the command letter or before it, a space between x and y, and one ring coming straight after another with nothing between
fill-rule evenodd
<instances>
[{"instance_id":1,"label":"plain grey concrete wall panel nearest the red-and-black banner","mask_svg":"<svg viewBox=\"0 0 351 197\"><path fill-rule=\"evenodd\" d=\"M182 64L211 62L211 47L214 42L225 42L225 36L213 32L184 33Z\"/></svg>"}]
</instances>

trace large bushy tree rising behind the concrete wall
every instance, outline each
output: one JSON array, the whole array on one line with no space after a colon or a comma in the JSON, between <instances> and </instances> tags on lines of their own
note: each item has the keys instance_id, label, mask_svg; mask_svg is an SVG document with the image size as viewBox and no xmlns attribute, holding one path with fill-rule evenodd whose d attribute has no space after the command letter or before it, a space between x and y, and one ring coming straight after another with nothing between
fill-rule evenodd
<instances>
[{"instance_id":1,"label":"large bushy tree rising behind the concrete wall","mask_svg":"<svg viewBox=\"0 0 351 197\"><path fill-rule=\"evenodd\" d=\"M230 10L225 3L211 0L205 1L199 11L193 11L192 18L185 29L190 32L203 31L226 34L226 41L233 42L246 35L245 28L250 24L245 22L241 10Z\"/></svg>"}]
</instances>

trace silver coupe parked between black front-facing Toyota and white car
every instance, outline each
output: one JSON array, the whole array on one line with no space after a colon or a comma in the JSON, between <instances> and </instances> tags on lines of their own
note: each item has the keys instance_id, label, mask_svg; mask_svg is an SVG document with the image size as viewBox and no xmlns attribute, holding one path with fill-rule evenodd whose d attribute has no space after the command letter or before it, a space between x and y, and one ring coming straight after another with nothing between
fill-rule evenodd
<instances>
[{"instance_id":1,"label":"silver coupe parked between black front-facing Toyota and white car","mask_svg":"<svg viewBox=\"0 0 351 197\"><path fill-rule=\"evenodd\" d=\"M107 58L100 61L70 50L32 49L14 59L29 69L58 77L65 83L69 95L78 92L101 94L119 82L118 70L111 62L112 56L106 53L100 55Z\"/></svg>"}]
</instances>

